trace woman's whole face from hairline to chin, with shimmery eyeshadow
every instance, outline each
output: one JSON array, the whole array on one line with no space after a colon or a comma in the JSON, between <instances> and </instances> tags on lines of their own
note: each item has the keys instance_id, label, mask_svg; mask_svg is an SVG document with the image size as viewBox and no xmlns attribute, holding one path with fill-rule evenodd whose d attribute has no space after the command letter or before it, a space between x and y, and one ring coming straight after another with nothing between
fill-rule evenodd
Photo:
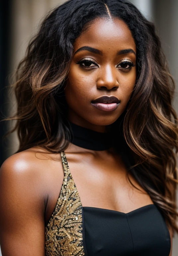
<instances>
[{"instance_id":1,"label":"woman's whole face from hairline to chin, with shimmery eyeshadow","mask_svg":"<svg viewBox=\"0 0 178 256\"><path fill-rule=\"evenodd\" d=\"M104 132L120 117L131 97L135 62L136 45L124 21L96 19L74 42L64 89L68 119Z\"/></svg>"}]
</instances>

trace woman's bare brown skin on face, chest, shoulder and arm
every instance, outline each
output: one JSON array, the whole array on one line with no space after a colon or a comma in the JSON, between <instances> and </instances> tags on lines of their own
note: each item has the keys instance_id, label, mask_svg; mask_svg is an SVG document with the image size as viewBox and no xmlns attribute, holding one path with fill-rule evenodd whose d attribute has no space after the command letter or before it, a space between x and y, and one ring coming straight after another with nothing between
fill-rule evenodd
<instances>
[{"instance_id":1,"label":"woman's bare brown skin on face, chest, shoulder and arm","mask_svg":"<svg viewBox=\"0 0 178 256\"><path fill-rule=\"evenodd\" d=\"M124 72L116 66L123 59L135 64L135 55L116 53L123 49L136 52L136 46L130 30L119 19L97 19L76 39L74 52L82 46L97 48L102 55L86 50L74 55L65 88L68 118L105 132L123 113L136 79L135 67ZM98 66L82 68L76 62L83 58L92 58ZM93 107L91 100L102 95L116 96L121 100L119 107L112 112ZM131 186L124 163L112 149L94 151L70 144L65 153L83 206L127 213L153 203L132 176L131 181L141 192ZM39 147L17 153L4 162L0 172L3 256L44 256L45 222L56 205L63 176L60 155L51 155Z\"/></svg>"}]
</instances>

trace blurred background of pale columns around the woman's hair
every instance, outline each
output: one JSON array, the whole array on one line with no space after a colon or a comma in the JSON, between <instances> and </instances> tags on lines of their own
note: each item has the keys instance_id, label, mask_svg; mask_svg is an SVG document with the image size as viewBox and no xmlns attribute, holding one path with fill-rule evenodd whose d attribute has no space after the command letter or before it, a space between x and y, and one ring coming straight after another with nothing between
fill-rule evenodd
<instances>
[{"instance_id":1,"label":"blurred background of pale columns around the woman's hair","mask_svg":"<svg viewBox=\"0 0 178 256\"><path fill-rule=\"evenodd\" d=\"M51 8L65 0L6 0L0 8L0 119L15 110L13 95L7 88L14 70L24 56L30 38L36 33L39 23ZM178 1L177 0L132 0L149 20L156 25L171 74L176 82L174 106L178 111ZM2 140L13 123L0 122L0 166L18 148L16 133ZM178 236L173 240L173 254L178 255ZM0 252L1 256L1 252Z\"/></svg>"}]
</instances>

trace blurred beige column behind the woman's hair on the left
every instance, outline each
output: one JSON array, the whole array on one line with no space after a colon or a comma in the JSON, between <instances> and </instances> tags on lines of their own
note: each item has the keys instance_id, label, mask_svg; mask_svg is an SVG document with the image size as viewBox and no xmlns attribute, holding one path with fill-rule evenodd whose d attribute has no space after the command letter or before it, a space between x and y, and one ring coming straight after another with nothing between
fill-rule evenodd
<instances>
[{"instance_id":1,"label":"blurred beige column behind the woman's hair on the left","mask_svg":"<svg viewBox=\"0 0 178 256\"><path fill-rule=\"evenodd\" d=\"M24 57L27 45L38 28L38 23L49 9L48 2L47 0L13 0L11 17L12 43L10 48L12 56L10 68L12 74L16 70L20 60ZM10 98L9 114L12 115L15 110L16 101L12 95ZM10 126L13 125L14 122L9 122L8 128L10 129ZM15 153L19 145L16 132L11 134L9 139L7 157Z\"/></svg>"}]
</instances>

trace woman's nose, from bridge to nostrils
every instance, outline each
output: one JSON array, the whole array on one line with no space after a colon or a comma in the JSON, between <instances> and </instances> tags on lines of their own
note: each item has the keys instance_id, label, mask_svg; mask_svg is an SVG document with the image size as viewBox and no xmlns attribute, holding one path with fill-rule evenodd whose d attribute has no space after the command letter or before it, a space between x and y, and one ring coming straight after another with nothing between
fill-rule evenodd
<instances>
[{"instance_id":1,"label":"woman's nose, from bridge to nostrils","mask_svg":"<svg viewBox=\"0 0 178 256\"><path fill-rule=\"evenodd\" d=\"M101 77L99 79L100 81L98 81L100 86L107 87L108 89L118 86L117 74L115 71L116 68L113 68L109 64L103 67Z\"/></svg>"}]
</instances>

